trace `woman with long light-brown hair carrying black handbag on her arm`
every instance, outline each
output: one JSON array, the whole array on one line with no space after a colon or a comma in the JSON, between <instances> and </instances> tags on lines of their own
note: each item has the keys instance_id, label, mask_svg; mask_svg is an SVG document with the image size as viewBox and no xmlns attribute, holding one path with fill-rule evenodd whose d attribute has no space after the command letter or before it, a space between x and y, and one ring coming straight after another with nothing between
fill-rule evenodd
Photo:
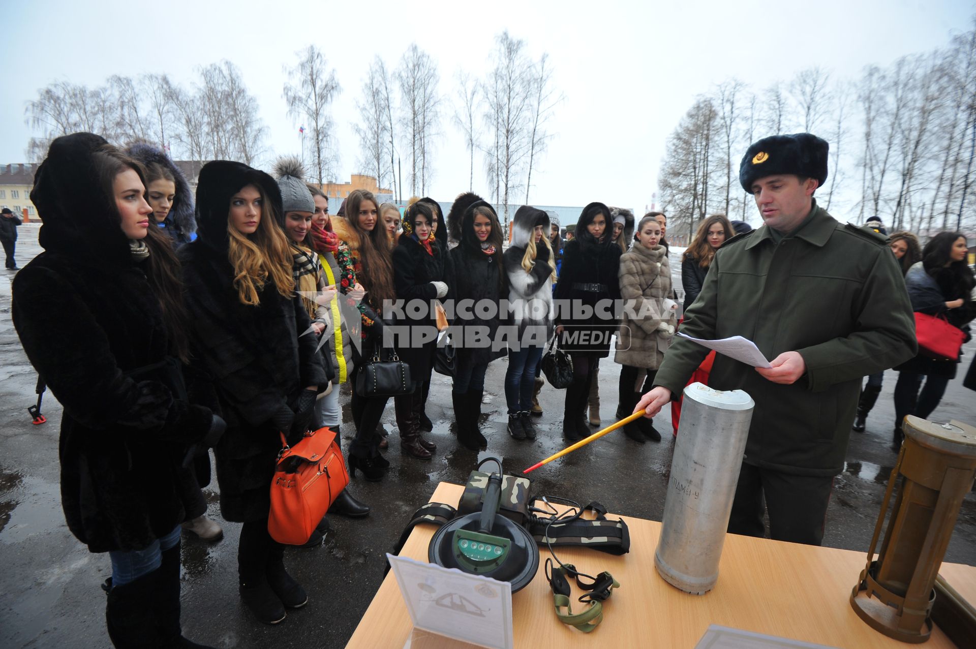
<instances>
[{"instance_id":1,"label":"woman with long light-brown hair carrying black handbag on her arm","mask_svg":"<svg viewBox=\"0 0 976 649\"><path fill-rule=\"evenodd\" d=\"M359 336L352 345L352 420L356 435L349 445L346 461L353 477L361 470L367 480L379 482L389 467L380 453L386 440L379 433L380 420L386 409L385 396L365 396L355 389L356 377L362 371L363 359L384 345L384 306L396 296L393 288L393 266L389 249L389 236L380 222L379 203L372 192L355 189L346 198L346 217L332 220L333 229L346 242L352 259L356 281L362 284L365 295L356 308L360 323L356 328ZM354 296L350 291L348 296ZM355 296L360 297L360 296Z\"/></svg>"}]
</instances>

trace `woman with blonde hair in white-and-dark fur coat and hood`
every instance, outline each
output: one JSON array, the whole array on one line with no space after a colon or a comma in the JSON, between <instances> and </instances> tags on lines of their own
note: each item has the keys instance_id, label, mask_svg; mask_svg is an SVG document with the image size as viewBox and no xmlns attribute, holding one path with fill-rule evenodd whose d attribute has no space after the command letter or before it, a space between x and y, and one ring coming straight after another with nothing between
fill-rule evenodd
<instances>
[{"instance_id":1,"label":"woman with blonde hair in white-and-dark fur coat and hood","mask_svg":"<svg viewBox=\"0 0 976 649\"><path fill-rule=\"evenodd\" d=\"M538 389L536 372L543 349L552 334L552 282L555 264L549 248L549 215L529 205L515 211L511 244L505 251L508 304L517 341L508 345L505 400L508 434L515 439L535 439L536 426L529 416Z\"/></svg>"}]
</instances>

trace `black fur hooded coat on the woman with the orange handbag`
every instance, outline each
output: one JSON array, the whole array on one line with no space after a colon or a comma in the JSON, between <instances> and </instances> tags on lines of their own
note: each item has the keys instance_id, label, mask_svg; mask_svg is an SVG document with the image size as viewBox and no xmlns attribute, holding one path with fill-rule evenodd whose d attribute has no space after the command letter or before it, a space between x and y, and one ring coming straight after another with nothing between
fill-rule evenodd
<instances>
[{"instance_id":1,"label":"black fur hooded coat on the woman with the orange handbag","mask_svg":"<svg viewBox=\"0 0 976 649\"><path fill-rule=\"evenodd\" d=\"M267 517L281 449L271 417L293 405L306 385L328 385L301 298L282 298L269 282L260 305L238 299L227 260L227 211L230 197L247 184L261 186L280 212L281 193L270 176L238 162L210 162L197 185L199 236L180 249L191 340L227 422L214 452L221 513L234 522Z\"/></svg>"}]
</instances>

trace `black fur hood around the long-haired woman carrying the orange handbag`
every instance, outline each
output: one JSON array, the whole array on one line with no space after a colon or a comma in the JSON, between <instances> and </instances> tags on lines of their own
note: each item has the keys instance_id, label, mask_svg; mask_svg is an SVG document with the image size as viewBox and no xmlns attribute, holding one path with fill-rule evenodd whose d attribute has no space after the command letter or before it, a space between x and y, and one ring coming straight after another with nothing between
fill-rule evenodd
<instances>
[{"instance_id":1,"label":"black fur hood around the long-haired woman carrying the orange handbag","mask_svg":"<svg viewBox=\"0 0 976 649\"><path fill-rule=\"evenodd\" d=\"M274 179L243 162L214 160L200 170L196 185L196 223L199 239L213 250L226 254L227 213L230 197L248 184L259 185L275 214L281 213L281 191ZM267 215L262 215L265 218Z\"/></svg>"}]
</instances>

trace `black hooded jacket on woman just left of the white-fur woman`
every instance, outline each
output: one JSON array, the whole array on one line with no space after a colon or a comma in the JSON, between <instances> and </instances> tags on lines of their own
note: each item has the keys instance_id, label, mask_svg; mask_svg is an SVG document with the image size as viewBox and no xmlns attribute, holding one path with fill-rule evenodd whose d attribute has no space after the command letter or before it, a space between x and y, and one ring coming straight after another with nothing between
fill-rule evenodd
<instances>
[{"instance_id":1,"label":"black hooded jacket on woman just left of the white-fur woman","mask_svg":"<svg viewBox=\"0 0 976 649\"><path fill-rule=\"evenodd\" d=\"M487 255L481 250L480 243L474 236L474 208L479 206L495 211L491 205L480 199L468 203L461 220L461 243L448 255L451 270L448 294L454 302L454 319L451 324L452 328L465 328L463 340L466 345L461 346L459 338L452 340L457 347L458 360L474 364L490 363L504 356L507 349L504 341L499 345L498 335L499 328L506 324L501 301L508 295L503 253L496 250L494 254ZM496 308L489 311L494 314L493 317L481 317L476 313L475 306L482 301L496 304ZM468 345L475 332L483 334L481 338L486 338L490 343Z\"/></svg>"}]
</instances>

